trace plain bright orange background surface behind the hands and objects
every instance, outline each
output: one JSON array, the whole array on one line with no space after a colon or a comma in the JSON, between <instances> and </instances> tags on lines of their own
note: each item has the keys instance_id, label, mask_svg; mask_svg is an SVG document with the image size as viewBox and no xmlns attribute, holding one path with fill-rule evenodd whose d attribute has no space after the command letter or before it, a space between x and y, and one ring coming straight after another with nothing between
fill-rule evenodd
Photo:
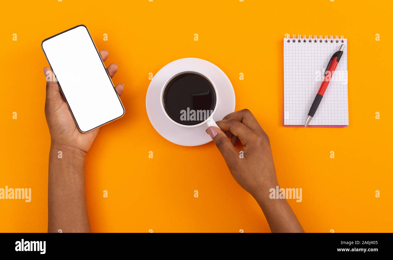
<instances>
[{"instance_id":1,"label":"plain bright orange background surface behind the hands and objects","mask_svg":"<svg viewBox=\"0 0 393 260\"><path fill-rule=\"evenodd\" d=\"M186 57L220 67L235 89L236 110L248 108L257 117L270 137L281 187L303 189L302 202L288 202L306 232L393 232L389 1L50 0L2 5L0 188L31 188L32 199L0 200L1 232L47 230L50 135L42 68L48 64L40 42L81 23L97 48L109 51L105 64L119 65L114 84L125 85L125 116L102 127L86 158L93 232L270 231L213 143L170 143L147 117L149 72L156 74ZM103 41L104 33L108 41ZM282 125L285 33L348 38L348 127Z\"/></svg>"}]
</instances>

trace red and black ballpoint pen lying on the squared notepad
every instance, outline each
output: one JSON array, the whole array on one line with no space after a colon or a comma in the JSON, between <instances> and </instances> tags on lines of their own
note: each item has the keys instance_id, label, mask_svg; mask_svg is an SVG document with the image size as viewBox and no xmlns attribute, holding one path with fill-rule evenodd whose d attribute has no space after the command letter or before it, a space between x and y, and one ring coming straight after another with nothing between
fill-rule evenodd
<instances>
[{"instance_id":1,"label":"red and black ballpoint pen lying on the squared notepad","mask_svg":"<svg viewBox=\"0 0 393 260\"><path fill-rule=\"evenodd\" d=\"M332 58L330 58L329 63L327 64L325 74L323 74L325 78L322 81L320 89L318 90L318 94L315 96L314 101L312 102L309 115L307 116L306 123L304 124L304 128L306 128L309 125L311 118L314 116L319 104L321 103L323 94L325 94L327 85L329 85L329 82L332 79L334 70L336 70L336 67L338 65L338 61L340 61L341 56L343 55L343 49L344 49L344 45L342 44L340 47L340 51L336 51L333 54Z\"/></svg>"}]
</instances>

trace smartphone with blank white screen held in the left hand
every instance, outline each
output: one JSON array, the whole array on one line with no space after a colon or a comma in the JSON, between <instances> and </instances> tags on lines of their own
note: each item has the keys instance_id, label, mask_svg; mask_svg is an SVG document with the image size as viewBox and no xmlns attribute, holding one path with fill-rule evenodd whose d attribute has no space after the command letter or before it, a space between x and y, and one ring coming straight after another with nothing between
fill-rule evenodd
<instances>
[{"instance_id":1,"label":"smartphone with blank white screen held in the left hand","mask_svg":"<svg viewBox=\"0 0 393 260\"><path fill-rule=\"evenodd\" d=\"M86 133L125 113L104 62L85 25L77 25L41 43L79 131ZM49 77L50 79L50 77Z\"/></svg>"}]
</instances>

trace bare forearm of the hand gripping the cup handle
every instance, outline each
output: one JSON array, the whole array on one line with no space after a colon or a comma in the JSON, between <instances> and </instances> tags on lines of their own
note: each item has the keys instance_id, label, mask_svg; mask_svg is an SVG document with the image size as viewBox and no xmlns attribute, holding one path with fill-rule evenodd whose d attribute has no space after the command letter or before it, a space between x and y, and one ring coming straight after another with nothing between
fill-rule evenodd
<instances>
[{"instance_id":1,"label":"bare forearm of the hand gripping the cup handle","mask_svg":"<svg viewBox=\"0 0 393 260\"><path fill-rule=\"evenodd\" d=\"M264 189L254 195L254 198L266 217L270 231L273 233L303 233L303 227L286 199L270 199L269 195L269 190Z\"/></svg>"}]
</instances>

